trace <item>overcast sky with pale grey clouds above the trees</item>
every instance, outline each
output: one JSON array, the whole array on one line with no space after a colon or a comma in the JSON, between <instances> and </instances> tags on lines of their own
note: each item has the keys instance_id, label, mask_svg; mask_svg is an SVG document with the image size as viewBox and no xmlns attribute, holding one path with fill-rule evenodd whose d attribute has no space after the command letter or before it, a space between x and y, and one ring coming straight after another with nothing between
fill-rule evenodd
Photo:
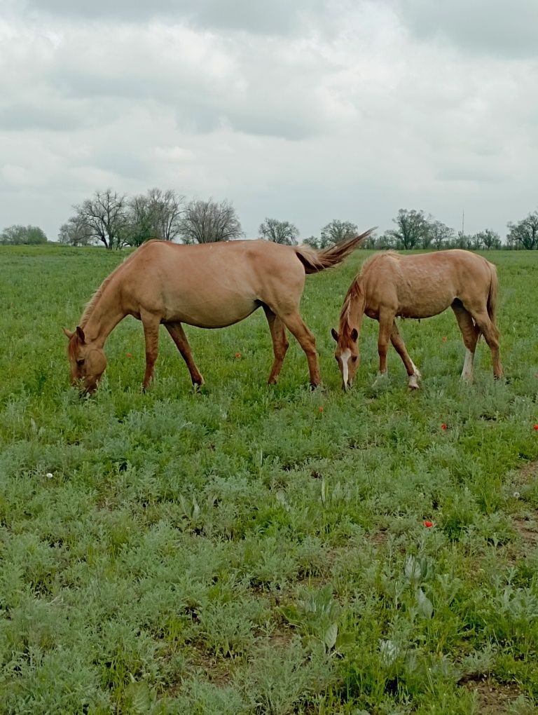
<instances>
[{"instance_id":1,"label":"overcast sky with pale grey clouds above the trees","mask_svg":"<svg viewBox=\"0 0 538 715\"><path fill-rule=\"evenodd\" d=\"M0 230L96 189L302 237L538 208L537 0L0 0Z\"/></svg>"}]
</instances>

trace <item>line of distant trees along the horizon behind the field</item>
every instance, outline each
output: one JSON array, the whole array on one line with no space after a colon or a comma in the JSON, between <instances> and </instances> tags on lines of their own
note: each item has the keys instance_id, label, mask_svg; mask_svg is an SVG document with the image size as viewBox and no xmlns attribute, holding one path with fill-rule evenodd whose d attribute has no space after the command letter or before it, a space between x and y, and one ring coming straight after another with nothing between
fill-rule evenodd
<instances>
[{"instance_id":1,"label":"line of distant trees along the horizon behind the field","mask_svg":"<svg viewBox=\"0 0 538 715\"><path fill-rule=\"evenodd\" d=\"M119 249L139 246L150 238L192 244L244 237L231 202L186 201L171 189L149 189L134 197L112 189L96 191L73 209L74 214L61 225L58 236L60 243L72 246L103 245ZM362 247L399 250L503 247L499 234L489 228L472 235L456 232L422 210L399 209L392 221L394 228L381 235L370 235ZM509 222L507 227L505 247L538 250L538 211L517 223ZM358 233L359 228L353 222L334 219L322 228L319 236L309 236L303 242L324 249ZM289 221L266 217L259 226L259 237L295 246L299 243L299 229ZM9 226L0 234L0 244L37 245L46 241L46 235L38 226Z\"/></svg>"}]
</instances>

